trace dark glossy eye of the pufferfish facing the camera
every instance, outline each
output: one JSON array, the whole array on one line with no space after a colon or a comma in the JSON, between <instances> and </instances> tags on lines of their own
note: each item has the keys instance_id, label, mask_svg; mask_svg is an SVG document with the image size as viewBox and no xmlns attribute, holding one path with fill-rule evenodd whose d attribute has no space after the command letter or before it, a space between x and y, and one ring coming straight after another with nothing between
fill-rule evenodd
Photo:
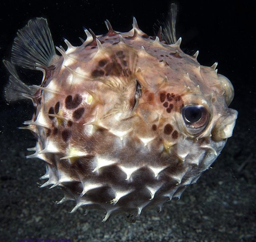
<instances>
[{"instance_id":1,"label":"dark glossy eye of the pufferfish facing the camera","mask_svg":"<svg viewBox=\"0 0 256 242\"><path fill-rule=\"evenodd\" d=\"M188 105L182 108L182 117L188 128L201 131L208 123L209 113L202 105Z\"/></svg>"}]
</instances>

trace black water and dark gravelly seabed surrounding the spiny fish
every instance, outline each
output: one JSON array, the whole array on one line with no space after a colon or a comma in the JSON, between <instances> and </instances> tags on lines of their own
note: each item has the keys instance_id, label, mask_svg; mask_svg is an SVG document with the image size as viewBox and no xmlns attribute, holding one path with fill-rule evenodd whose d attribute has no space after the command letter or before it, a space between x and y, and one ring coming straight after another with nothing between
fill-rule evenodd
<instances>
[{"instance_id":1,"label":"black water and dark gravelly seabed surrounding the spiny fish","mask_svg":"<svg viewBox=\"0 0 256 242\"><path fill-rule=\"evenodd\" d=\"M45 17L56 46L62 38L74 46L85 39L83 27L106 33L108 19L114 30L126 32L136 17L142 31L167 14L170 1L5 1L0 14L0 241L256 241L256 7L253 1L173 1L178 5L177 37L188 54L199 50L199 63L218 61L218 73L235 89L230 107L238 111L229 138L212 169L188 186L180 200L142 211L135 223L125 214L102 223L103 211L84 216L82 207L69 213L74 202L56 204L59 188L39 188L44 163L25 159L36 143L33 135L17 129L32 117L29 101L7 103L8 81L2 59L8 59L17 30L34 17ZM21 69L27 84L38 84L41 73Z\"/></svg>"}]
</instances>

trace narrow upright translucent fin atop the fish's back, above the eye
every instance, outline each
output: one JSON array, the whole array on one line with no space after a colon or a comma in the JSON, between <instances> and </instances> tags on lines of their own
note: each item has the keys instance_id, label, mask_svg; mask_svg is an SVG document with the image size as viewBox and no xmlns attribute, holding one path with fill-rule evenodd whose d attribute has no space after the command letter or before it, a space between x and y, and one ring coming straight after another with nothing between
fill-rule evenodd
<instances>
[{"instance_id":1,"label":"narrow upright translucent fin atop the fish's back, above the eye","mask_svg":"<svg viewBox=\"0 0 256 242\"><path fill-rule=\"evenodd\" d=\"M154 25L154 29L158 30L162 25L162 36L163 40L167 44L175 44L177 42L176 38L176 17L177 17L177 5L175 3L171 4L171 8L167 14L166 20L158 20Z\"/></svg>"}]
</instances>

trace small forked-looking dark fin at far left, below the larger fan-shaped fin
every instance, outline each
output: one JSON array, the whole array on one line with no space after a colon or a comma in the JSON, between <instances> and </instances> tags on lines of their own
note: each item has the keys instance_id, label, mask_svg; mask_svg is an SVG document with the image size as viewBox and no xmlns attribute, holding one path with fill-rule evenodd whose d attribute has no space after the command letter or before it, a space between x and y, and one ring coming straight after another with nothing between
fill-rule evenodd
<instances>
[{"instance_id":1,"label":"small forked-looking dark fin at far left, below the larger fan-shaped fin","mask_svg":"<svg viewBox=\"0 0 256 242\"><path fill-rule=\"evenodd\" d=\"M7 101L21 100L27 98L33 99L34 90L32 90L28 85L26 85L19 79L19 75L15 70L13 64L7 60L3 60L3 63L11 74L8 83L4 88L5 99Z\"/></svg>"}]
</instances>

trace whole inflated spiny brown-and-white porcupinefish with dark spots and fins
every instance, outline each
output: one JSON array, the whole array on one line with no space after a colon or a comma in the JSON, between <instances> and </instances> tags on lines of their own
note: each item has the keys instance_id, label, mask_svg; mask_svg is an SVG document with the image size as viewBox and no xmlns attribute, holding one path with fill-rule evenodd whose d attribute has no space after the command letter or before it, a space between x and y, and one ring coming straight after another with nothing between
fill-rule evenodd
<instances>
[{"instance_id":1,"label":"whole inflated spiny brown-and-white porcupinefish with dark spots and fins","mask_svg":"<svg viewBox=\"0 0 256 242\"><path fill-rule=\"evenodd\" d=\"M103 209L138 217L144 208L180 198L220 154L231 137L237 111L228 108L234 90L217 73L180 49L176 5L172 19L148 36L133 18L129 32L85 29L86 41L56 47L44 18L17 32L7 101L28 98L34 104L31 130L37 143L27 158L45 162L41 187L60 186L71 212ZM28 86L16 66L43 73Z\"/></svg>"}]
</instances>

